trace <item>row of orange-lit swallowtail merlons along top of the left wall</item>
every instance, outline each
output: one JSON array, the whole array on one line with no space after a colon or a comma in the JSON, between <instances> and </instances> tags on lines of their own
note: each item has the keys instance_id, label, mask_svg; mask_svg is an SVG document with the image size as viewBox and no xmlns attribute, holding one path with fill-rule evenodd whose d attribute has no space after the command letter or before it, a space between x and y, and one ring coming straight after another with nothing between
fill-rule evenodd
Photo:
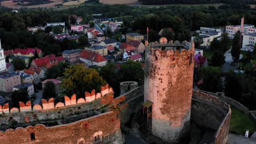
<instances>
[{"instance_id":1,"label":"row of orange-lit swallowtail merlons along top of the left wall","mask_svg":"<svg viewBox=\"0 0 256 144\"><path fill-rule=\"evenodd\" d=\"M85 98L79 98L77 100L76 95L73 94L71 98L68 96L65 96L65 103L57 103L56 105L54 104L54 98L50 98L48 101L45 99L42 99L42 105L33 105L31 104L31 101L27 101L26 104L23 102L19 102L20 109L17 107L13 107L9 110L9 104L6 103L3 106L0 105L0 114L7 114L7 113L17 113L17 112L28 112L28 111L40 111L40 110L48 110L48 109L56 109L59 107L65 108L66 106L69 105L77 105L77 104L83 104L83 103L89 103L91 101L94 101L96 99L99 99L103 97L106 94L114 93L112 87L108 87L108 84L106 86L101 87L101 92L96 93L95 89L89 92L85 92Z\"/></svg>"}]
</instances>

